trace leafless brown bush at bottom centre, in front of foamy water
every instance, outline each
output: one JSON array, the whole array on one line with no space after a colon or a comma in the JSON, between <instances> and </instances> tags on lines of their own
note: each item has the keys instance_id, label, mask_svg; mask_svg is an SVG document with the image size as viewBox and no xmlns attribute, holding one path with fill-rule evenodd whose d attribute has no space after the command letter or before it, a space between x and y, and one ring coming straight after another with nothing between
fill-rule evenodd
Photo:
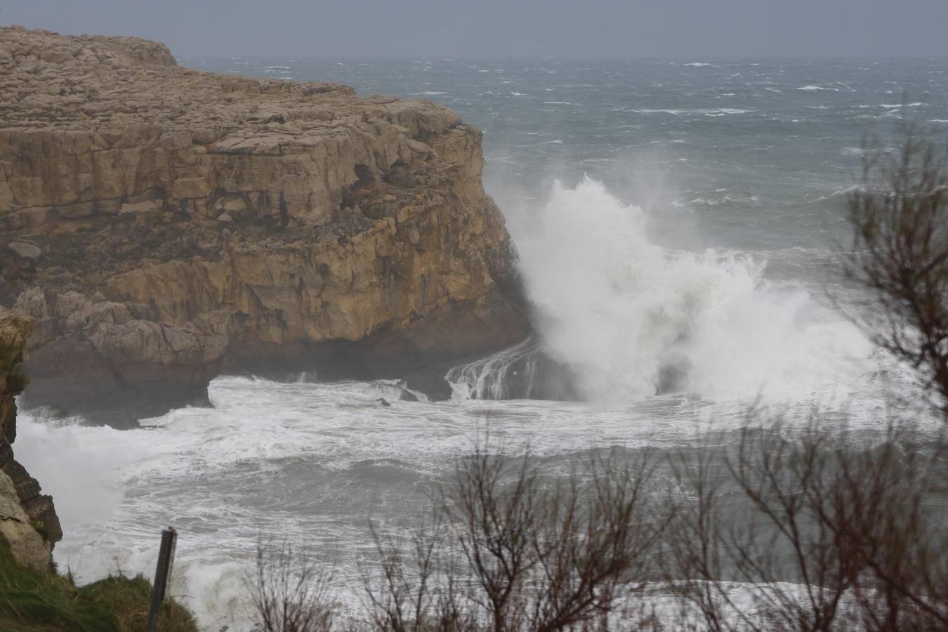
<instances>
[{"instance_id":1,"label":"leafless brown bush at bottom centre, in front of foamy water","mask_svg":"<svg viewBox=\"0 0 948 632\"><path fill-rule=\"evenodd\" d=\"M396 632L606 630L616 616L632 629L650 624L628 602L668 521L646 494L651 460L591 465L563 481L541 478L529 456L478 449L462 460L410 564L376 537L374 623Z\"/></svg>"}]
</instances>

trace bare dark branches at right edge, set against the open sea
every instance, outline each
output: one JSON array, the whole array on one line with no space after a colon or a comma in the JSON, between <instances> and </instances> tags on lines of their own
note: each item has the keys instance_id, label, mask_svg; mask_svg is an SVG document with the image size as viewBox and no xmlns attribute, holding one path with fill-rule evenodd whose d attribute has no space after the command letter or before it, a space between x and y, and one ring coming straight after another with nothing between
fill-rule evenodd
<instances>
[{"instance_id":1,"label":"bare dark branches at right edge, set against the open sea","mask_svg":"<svg viewBox=\"0 0 948 632\"><path fill-rule=\"evenodd\" d=\"M846 271L874 304L857 322L919 372L948 413L948 148L913 125L898 151L864 143L861 186L848 196Z\"/></svg>"}]
</instances>

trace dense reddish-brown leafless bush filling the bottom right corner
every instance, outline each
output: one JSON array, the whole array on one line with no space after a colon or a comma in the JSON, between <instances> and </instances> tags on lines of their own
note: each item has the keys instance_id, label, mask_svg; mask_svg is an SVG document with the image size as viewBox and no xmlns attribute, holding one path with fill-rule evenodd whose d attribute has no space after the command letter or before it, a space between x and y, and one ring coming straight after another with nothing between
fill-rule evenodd
<instances>
[{"instance_id":1,"label":"dense reddish-brown leafless bush filling the bottom right corner","mask_svg":"<svg viewBox=\"0 0 948 632\"><path fill-rule=\"evenodd\" d=\"M919 439L747 427L719 458L680 456L664 559L683 611L710 630L948 629L948 472Z\"/></svg>"}]
</instances>

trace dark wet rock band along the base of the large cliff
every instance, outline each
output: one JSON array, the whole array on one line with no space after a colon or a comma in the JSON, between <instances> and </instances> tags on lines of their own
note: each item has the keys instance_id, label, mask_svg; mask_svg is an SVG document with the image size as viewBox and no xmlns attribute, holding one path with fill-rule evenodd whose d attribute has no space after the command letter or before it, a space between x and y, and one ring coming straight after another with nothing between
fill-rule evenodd
<instances>
[{"instance_id":1,"label":"dark wet rock band along the base of the large cliff","mask_svg":"<svg viewBox=\"0 0 948 632\"><path fill-rule=\"evenodd\" d=\"M137 420L183 406L210 406L217 375L255 375L280 382L302 373L319 382L402 379L430 401L450 399L447 370L516 345L530 333L520 298L495 291L483 304L451 306L404 330L381 330L358 340L275 345L241 341L220 362L200 370L111 366L87 345L39 347L31 352L26 406L51 406L91 424L137 427Z\"/></svg>"}]
</instances>

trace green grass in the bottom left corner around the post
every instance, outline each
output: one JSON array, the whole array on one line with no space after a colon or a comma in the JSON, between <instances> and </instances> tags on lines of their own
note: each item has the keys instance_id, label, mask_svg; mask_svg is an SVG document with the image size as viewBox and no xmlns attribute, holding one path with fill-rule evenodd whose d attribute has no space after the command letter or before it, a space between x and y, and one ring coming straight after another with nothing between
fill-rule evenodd
<instances>
[{"instance_id":1,"label":"green grass in the bottom left corner around the post","mask_svg":"<svg viewBox=\"0 0 948 632\"><path fill-rule=\"evenodd\" d=\"M23 569L0 538L0 630L4 632L144 632L152 593L142 576L107 577L76 587L68 577ZM191 613L167 602L161 632L197 632Z\"/></svg>"}]
</instances>

